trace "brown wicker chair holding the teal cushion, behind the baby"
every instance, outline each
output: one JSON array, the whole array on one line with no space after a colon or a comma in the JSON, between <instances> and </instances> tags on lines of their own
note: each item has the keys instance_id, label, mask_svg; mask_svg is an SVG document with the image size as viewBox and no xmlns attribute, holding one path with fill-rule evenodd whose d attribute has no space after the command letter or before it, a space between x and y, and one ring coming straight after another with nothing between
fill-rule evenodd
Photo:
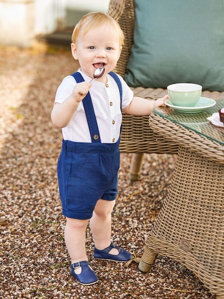
<instances>
[{"instance_id":1,"label":"brown wicker chair holding the teal cushion, behind the baby","mask_svg":"<svg viewBox=\"0 0 224 299\"><path fill-rule=\"evenodd\" d=\"M134 0L111 0L108 14L118 21L125 34L125 46L122 49L117 66L114 69L123 76L133 44L133 31L135 24ZM157 99L167 94L163 88L132 88L134 95L146 99ZM217 100L224 97L224 93L203 91L203 96ZM164 137L154 133L148 123L148 117L136 117L123 114L123 125L120 142L120 152L133 153L130 178L139 177L144 153L177 153L178 146Z\"/></svg>"}]
</instances>

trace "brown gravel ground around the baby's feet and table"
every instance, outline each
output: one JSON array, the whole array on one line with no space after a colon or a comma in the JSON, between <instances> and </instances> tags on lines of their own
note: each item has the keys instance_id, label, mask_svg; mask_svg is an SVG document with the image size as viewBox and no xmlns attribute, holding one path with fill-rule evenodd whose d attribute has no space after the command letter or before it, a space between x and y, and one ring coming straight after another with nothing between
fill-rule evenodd
<instances>
[{"instance_id":1,"label":"brown gravel ground around the baby's feet and table","mask_svg":"<svg viewBox=\"0 0 224 299\"><path fill-rule=\"evenodd\" d=\"M93 258L99 277L78 284L69 273L56 163L61 132L50 112L57 86L76 70L70 52L0 48L0 298L212 299L188 269L158 257L150 273ZM140 180L130 182L130 154L121 154L113 242L141 257L144 240L166 196L175 155L145 155Z\"/></svg>"}]
</instances>

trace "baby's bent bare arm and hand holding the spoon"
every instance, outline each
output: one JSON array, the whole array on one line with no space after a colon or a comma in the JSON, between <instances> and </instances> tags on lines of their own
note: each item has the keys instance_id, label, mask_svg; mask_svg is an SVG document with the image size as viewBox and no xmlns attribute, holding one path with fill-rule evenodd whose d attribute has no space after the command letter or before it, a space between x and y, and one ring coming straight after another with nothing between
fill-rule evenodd
<instances>
[{"instance_id":1,"label":"baby's bent bare arm and hand holding the spoon","mask_svg":"<svg viewBox=\"0 0 224 299\"><path fill-rule=\"evenodd\" d=\"M64 128L70 123L77 107L85 98L91 86L92 84L88 82L77 83L71 96L63 103L54 104L51 111L51 120L56 127Z\"/></svg>"}]
</instances>

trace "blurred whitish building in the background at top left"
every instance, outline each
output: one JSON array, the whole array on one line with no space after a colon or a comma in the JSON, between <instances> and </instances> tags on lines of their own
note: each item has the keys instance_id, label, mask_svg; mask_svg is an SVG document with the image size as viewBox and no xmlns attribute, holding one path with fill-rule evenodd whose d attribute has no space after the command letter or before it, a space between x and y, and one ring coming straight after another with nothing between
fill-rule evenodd
<instances>
[{"instance_id":1,"label":"blurred whitish building in the background at top left","mask_svg":"<svg viewBox=\"0 0 224 299\"><path fill-rule=\"evenodd\" d=\"M35 36L73 27L110 0L0 0L0 44L28 47Z\"/></svg>"}]
</instances>

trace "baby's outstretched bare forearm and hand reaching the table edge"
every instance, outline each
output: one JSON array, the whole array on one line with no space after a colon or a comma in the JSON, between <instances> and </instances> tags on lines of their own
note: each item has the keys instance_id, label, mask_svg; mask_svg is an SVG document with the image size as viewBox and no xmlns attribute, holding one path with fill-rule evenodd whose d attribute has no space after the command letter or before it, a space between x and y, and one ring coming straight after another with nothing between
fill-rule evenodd
<instances>
[{"instance_id":1,"label":"baby's outstretched bare forearm and hand reaching the table edge","mask_svg":"<svg viewBox=\"0 0 224 299\"><path fill-rule=\"evenodd\" d=\"M133 97L130 104L124 109L122 109L122 112L136 116L147 116L152 112L154 108L159 106L166 106L164 102L167 99L169 99L168 95L157 100L147 100L140 97Z\"/></svg>"}]
</instances>

